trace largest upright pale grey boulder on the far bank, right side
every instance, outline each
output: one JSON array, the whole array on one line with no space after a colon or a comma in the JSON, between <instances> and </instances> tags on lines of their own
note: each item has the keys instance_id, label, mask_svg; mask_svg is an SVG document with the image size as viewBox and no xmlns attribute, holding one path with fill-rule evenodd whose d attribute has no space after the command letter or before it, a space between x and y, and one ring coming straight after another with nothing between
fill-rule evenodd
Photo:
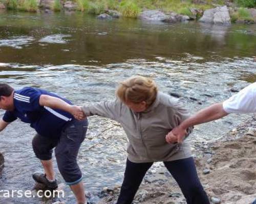
<instances>
[{"instance_id":1,"label":"largest upright pale grey boulder on the far bank, right side","mask_svg":"<svg viewBox=\"0 0 256 204\"><path fill-rule=\"evenodd\" d=\"M208 9L204 12L200 22L211 24L230 25L230 16L227 6L216 7L215 9Z\"/></svg>"}]
</instances>

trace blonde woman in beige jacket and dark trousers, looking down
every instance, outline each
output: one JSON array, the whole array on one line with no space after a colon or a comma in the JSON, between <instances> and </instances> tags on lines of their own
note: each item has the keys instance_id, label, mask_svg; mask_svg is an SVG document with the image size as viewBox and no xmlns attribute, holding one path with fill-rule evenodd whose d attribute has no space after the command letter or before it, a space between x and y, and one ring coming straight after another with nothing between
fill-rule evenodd
<instances>
[{"instance_id":1,"label":"blonde woman in beige jacket and dark trousers, looking down","mask_svg":"<svg viewBox=\"0 0 256 204\"><path fill-rule=\"evenodd\" d=\"M187 110L176 98L159 92L153 80L144 77L133 77L120 83L116 96L116 100L81 108L86 116L98 115L120 122L129 139L117 204L132 203L146 171L154 162L164 163L188 204L209 204L188 142L168 144L165 141L165 136L189 117Z\"/></svg>"}]
</instances>

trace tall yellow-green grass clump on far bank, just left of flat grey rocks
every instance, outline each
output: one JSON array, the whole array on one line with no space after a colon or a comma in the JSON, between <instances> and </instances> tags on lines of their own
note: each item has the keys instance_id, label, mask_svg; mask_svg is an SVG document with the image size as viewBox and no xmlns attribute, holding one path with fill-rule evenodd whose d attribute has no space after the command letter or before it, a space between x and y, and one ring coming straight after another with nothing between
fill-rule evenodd
<instances>
[{"instance_id":1,"label":"tall yellow-green grass clump on far bank, just left of flat grey rocks","mask_svg":"<svg viewBox=\"0 0 256 204\"><path fill-rule=\"evenodd\" d=\"M140 13L140 8L135 1L122 1L119 5L119 11L125 17L137 18Z\"/></svg>"}]
</instances>

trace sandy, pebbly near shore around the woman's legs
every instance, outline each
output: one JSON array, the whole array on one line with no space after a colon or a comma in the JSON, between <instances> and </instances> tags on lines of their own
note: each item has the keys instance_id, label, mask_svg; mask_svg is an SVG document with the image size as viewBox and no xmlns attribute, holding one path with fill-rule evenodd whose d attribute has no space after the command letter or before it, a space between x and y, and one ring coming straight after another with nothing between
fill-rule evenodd
<instances>
[{"instance_id":1,"label":"sandy, pebbly near shore around the woman's legs","mask_svg":"<svg viewBox=\"0 0 256 204\"><path fill-rule=\"evenodd\" d=\"M247 204L256 198L255 144L254 116L230 131L222 141L196 145L195 163L211 203ZM118 185L104 188L98 203L115 203L119 191ZM182 204L186 201L163 164L157 163L144 177L134 203Z\"/></svg>"}]
</instances>

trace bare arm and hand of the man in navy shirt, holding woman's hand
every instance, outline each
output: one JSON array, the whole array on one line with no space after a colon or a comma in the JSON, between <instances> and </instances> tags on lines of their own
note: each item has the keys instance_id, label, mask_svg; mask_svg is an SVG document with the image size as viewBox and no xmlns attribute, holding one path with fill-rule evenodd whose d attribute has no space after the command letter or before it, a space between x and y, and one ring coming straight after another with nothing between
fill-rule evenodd
<instances>
[{"instance_id":1,"label":"bare arm and hand of the man in navy shirt, holding woman's hand","mask_svg":"<svg viewBox=\"0 0 256 204\"><path fill-rule=\"evenodd\" d=\"M61 100L60 98L49 96L49 95L41 95L39 98L40 106L46 106L52 109L60 109L72 114L75 118L77 115L81 114L82 111L77 106L72 106L68 104L66 101Z\"/></svg>"}]
</instances>

